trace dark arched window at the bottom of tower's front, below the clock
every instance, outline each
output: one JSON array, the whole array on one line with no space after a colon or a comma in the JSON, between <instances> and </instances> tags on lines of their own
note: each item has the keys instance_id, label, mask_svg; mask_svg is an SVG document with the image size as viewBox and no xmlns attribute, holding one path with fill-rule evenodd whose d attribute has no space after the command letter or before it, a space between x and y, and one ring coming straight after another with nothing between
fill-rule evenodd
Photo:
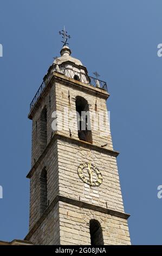
<instances>
[{"instance_id":1,"label":"dark arched window at the bottom of tower's front, below the clock","mask_svg":"<svg viewBox=\"0 0 162 256\"><path fill-rule=\"evenodd\" d=\"M90 220L89 230L91 245L104 245L100 222L96 220Z\"/></svg>"}]
</instances>

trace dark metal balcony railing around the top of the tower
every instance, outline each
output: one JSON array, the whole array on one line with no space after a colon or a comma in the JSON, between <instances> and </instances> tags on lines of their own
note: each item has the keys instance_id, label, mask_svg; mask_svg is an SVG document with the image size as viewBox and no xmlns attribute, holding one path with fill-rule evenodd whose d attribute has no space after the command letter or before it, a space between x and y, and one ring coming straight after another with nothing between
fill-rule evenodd
<instances>
[{"instance_id":1,"label":"dark metal balcony railing around the top of the tower","mask_svg":"<svg viewBox=\"0 0 162 256\"><path fill-rule=\"evenodd\" d=\"M73 78L73 79L75 79L77 81L80 81L82 83L88 84L89 86L98 87L98 88L101 88L101 89L107 91L106 82L104 82L102 80L99 80L99 79L96 79L92 76L88 76L88 75L84 74L83 72L77 72L75 70L65 68L64 66L59 68L59 66L58 65L56 66L56 64L53 66L53 69L50 68L49 70L50 70L50 74L49 75L47 74L45 77L49 78L51 76L51 71L54 71L54 72L57 72L57 73L62 74L64 76ZM47 80L48 80L48 78L47 78ZM46 80L44 80L44 81L46 81ZM41 83L40 88L38 88L33 100L30 103L30 110L34 107L35 103L37 102L37 100L41 96L44 88L46 88L47 83L44 82L44 81Z\"/></svg>"}]
</instances>

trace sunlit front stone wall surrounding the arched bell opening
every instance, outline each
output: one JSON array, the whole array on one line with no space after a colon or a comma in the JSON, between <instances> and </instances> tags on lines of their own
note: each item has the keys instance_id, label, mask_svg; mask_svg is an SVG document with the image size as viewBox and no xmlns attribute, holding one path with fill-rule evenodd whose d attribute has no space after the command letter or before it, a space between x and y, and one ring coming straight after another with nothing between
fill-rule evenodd
<instances>
[{"instance_id":1,"label":"sunlit front stone wall surrounding the arched bell opening","mask_svg":"<svg viewBox=\"0 0 162 256\"><path fill-rule=\"evenodd\" d=\"M61 84L56 82L56 110L63 114L64 109L68 109L67 113L62 115L63 118L60 118L59 115L57 117L59 133L69 136L70 129L72 138L79 139L76 123L76 96L84 97L88 101L93 144L99 145L99 147L107 144L105 148L113 149L106 100L99 96L99 94L84 91L79 86L74 89L72 87L68 87L68 83ZM69 122L70 126L68 126ZM98 130L98 128L100 130Z\"/></svg>"}]
</instances>

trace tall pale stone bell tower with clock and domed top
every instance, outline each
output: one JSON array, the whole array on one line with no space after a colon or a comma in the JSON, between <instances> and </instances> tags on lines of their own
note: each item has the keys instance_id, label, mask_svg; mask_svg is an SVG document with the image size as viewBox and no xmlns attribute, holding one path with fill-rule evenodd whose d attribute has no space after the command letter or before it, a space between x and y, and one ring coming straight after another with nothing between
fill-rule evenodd
<instances>
[{"instance_id":1,"label":"tall pale stone bell tower with clock and domed top","mask_svg":"<svg viewBox=\"0 0 162 256\"><path fill-rule=\"evenodd\" d=\"M129 245L106 82L64 44L30 104L30 223L36 245Z\"/></svg>"}]
</instances>

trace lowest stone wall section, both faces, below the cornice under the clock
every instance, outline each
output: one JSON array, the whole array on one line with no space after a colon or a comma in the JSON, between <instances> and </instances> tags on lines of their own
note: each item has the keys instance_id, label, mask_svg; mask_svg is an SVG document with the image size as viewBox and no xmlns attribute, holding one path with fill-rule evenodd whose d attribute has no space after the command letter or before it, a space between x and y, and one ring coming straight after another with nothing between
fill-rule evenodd
<instances>
[{"instance_id":1,"label":"lowest stone wall section, both faces, below the cornice under the clock","mask_svg":"<svg viewBox=\"0 0 162 256\"><path fill-rule=\"evenodd\" d=\"M90 245L90 220L101 224L104 245L130 245L127 220L57 202L30 241L35 245Z\"/></svg>"}]
</instances>

